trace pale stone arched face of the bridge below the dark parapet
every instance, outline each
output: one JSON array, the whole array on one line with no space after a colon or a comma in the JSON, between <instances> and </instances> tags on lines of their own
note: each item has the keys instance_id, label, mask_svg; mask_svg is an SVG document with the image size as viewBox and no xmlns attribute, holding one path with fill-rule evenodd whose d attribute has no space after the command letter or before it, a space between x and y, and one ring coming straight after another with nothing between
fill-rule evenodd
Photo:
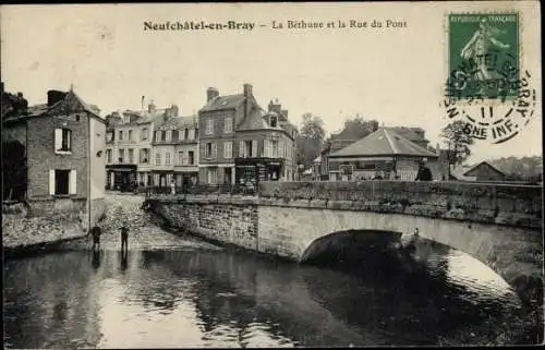
<instances>
[{"instance_id":1,"label":"pale stone arched face of the bridge below the dark parapet","mask_svg":"<svg viewBox=\"0 0 545 350\"><path fill-rule=\"evenodd\" d=\"M522 300L543 301L543 234L538 230L492 224L474 224L429 217L302 207L261 207L259 236L280 236L289 255L307 262L316 245L354 229L366 232L398 232L464 252L491 267ZM329 238L328 238L329 237ZM314 245L314 246L313 246ZM288 252L287 254L288 255Z\"/></svg>"}]
</instances>

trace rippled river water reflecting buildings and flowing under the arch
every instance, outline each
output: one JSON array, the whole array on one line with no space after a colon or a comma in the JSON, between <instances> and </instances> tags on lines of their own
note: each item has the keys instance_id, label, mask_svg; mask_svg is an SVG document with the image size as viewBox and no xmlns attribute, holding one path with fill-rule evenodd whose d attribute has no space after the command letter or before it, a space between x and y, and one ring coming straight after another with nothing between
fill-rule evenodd
<instances>
[{"instance_id":1,"label":"rippled river water reflecting buildings and flowing under the arch","mask_svg":"<svg viewBox=\"0 0 545 350\"><path fill-rule=\"evenodd\" d=\"M131 207L117 233L4 263L8 348L487 345L514 341L521 302L471 256L425 244L423 270L298 266L165 232ZM132 206L131 206L132 205Z\"/></svg>"}]
</instances>

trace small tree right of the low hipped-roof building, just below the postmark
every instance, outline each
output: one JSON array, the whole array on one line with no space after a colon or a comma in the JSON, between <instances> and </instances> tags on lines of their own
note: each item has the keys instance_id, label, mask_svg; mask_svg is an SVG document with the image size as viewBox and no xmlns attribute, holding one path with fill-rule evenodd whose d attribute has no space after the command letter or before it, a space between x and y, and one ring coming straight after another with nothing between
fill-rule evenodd
<instances>
[{"instance_id":1,"label":"small tree right of the low hipped-roof building, just below the postmark","mask_svg":"<svg viewBox=\"0 0 545 350\"><path fill-rule=\"evenodd\" d=\"M464 123L457 120L443 128L440 136L447 145L449 165L461 165L471 155L473 137L463 131Z\"/></svg>"}]
</instances>

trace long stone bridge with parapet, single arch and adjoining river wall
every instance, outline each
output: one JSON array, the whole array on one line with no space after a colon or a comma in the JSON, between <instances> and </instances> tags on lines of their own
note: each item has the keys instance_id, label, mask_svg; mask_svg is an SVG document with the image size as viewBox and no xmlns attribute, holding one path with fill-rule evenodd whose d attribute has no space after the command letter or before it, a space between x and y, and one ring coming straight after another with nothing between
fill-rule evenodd
<instances>
[{"instance_id":1,"label":"long stone bridge with parapet, single arch and adjoining river wall","mask_svg":"<svg viewBox=\"0 0 545 350\"><path fill-rule=\"evenodd\" d=\"M486 264L523 299L543 302L542 190L462 182L265 182L255 197L148 201L170 226L296 262L366 236L373 237L366 244L374 244L377 232L399 238L417 231Z\"/></svg>"}]
</instances>

